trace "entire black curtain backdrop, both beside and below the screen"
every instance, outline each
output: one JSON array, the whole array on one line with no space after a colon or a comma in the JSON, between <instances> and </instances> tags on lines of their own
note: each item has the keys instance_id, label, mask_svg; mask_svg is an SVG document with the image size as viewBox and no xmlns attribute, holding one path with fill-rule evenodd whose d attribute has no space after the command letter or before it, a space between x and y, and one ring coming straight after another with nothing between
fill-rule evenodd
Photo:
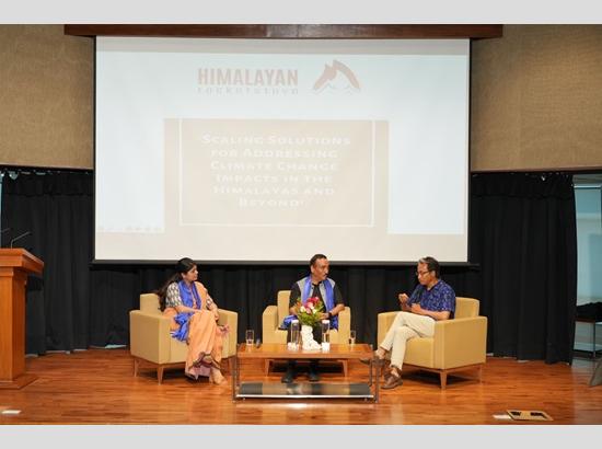
<instances>
[{"instance_id":1,"label":"entire black curtain backdrop, both beside and below the screen","mask_svg":"<svg viewBox=\"0 0 602 449\"><path fill-rule=\"evenodd\" d=\"M494 355L570 361L577 292L571 176L498 173L471 181L475 264L443 266L443 278L458 296L481 299ZM127 344L128 312L138 307L140 292L154 290L172 274L171 266L90 264L92 184L90 172L3 177L2 229L32 230L20 243L46 264L43 278L28 283L27 353ZM3 235L4 245L10 237ZM320 247L309 250L308 258L314 251ZM261 335L266 306L308 267L201 265L199 270L218 304L239 312L242 341L245 329ZM397 310L397 293L416 285L414 272L415 266L331 267L358 339L375 343L377 314Z\"/></svg>"}]
</instances>

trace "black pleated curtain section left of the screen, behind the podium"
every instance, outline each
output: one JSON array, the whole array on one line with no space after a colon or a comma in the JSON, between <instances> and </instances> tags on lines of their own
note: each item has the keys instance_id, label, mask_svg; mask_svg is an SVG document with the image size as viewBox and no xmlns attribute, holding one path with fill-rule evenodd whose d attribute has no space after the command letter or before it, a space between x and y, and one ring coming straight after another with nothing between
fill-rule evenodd
<instances>
[{"instance_id":1,"label":"black pleated curtain section left of the screen, behind the podium","mask_svg":"<svg viewBox=\"0 0 602 449\"><path fill-rule=\"evenodd\" d=\"M85 348L90 342L92 175L21 172L3 176L2 246L31 231L15 246L44 261L43 276L30 276L25 310L26 352Z\"/></svg>"}]
</instances>

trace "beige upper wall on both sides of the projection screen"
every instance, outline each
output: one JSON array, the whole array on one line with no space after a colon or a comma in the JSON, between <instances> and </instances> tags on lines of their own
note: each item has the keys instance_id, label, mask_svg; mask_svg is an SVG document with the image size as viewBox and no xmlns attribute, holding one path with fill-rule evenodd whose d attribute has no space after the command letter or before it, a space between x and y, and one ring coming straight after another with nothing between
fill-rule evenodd
<instances>
[{"instance_id":1,"label":"beige upper wall on both sides of the projection screen","mask_svg":"<svg viewBox=\"0 0 602 449\"><path fill-rule=\"evenodd\" d=\"M0 25L0 164L93 166L93 42ZM475 41L473 171L602 168L602 25Z\"/></svg>"}]
</instances>

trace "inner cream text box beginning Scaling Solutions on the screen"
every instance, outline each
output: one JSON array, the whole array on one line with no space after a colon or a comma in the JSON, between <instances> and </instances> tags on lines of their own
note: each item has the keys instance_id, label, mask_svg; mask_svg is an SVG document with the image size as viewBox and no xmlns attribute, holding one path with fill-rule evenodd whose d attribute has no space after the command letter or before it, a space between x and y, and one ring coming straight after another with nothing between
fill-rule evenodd
<instances>
[{"instance_id":1,"label":"inner cream text box beginning Scaling Solutions on the screen","mask_svg":"<svg viewBox=\"0 0 602 449\"><path fill-rule=\"evenodd\" d=\"M182 119L180 130L167 153L180 151L183 225L373 225L370 122ZM348 195L345 216L312 214Z\"/></svg>"}]
</instances>

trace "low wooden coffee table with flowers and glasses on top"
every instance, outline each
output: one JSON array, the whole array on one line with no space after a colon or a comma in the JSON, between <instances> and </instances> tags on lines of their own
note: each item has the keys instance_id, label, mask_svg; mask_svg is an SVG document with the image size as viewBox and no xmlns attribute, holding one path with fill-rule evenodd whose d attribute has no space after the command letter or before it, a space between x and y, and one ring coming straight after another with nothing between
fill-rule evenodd
<instances>
[{"instance_id":1,"label":"low wooden coffee table with flowers and glasses on top","mask_svg":"<svg viewBox=\"0 0 602 449\"><path fill-rule=\"evenodd\" d=\"M281 382L241 382L240 359L317 359L350 360L370 359L367 367L368 380L358 383L281 383ZM283 343L264 343L259 347L241 343L236 348L232 372L232 400L247 398L277 399L363 399L379 402L380 364L374 359L372 346L363 343L355 345L331 344L328 352L289 350ZM373 389L373 391L372 391Z\"/></svg>"}]
</instances>

